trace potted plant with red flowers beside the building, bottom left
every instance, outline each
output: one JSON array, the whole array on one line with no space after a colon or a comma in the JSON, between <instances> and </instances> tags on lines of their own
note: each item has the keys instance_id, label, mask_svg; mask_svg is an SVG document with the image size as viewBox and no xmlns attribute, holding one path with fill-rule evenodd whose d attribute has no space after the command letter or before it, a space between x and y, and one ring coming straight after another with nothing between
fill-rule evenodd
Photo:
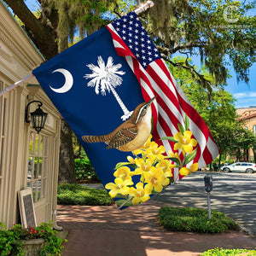
<instances>
[{"instance_id":1,"label":"potted plant with red flowers beside the building, bottom left","mask_svg":"<svg viewBox=\"0 0 256 256\"><path fill-rule=\"evenodd\" d=\"M51 224L22 228L15 224L7 230L0 223L0 255L61 255L63 240Z\"/></svg>"}]
</instances>

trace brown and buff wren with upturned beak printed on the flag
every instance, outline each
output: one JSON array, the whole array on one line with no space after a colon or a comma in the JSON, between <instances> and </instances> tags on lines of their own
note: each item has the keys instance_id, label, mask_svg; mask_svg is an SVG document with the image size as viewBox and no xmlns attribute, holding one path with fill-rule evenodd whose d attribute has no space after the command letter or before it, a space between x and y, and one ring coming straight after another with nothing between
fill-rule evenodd
<instances>
[{"instance_id":1,"label":"brown and buff wren with upturned beak printed on the flag","mask_svg":"<svg viewBox=\"0 0 256 256\"><path fill-rule=\"evenodd\" d=\"M155 97L154 97L155 98ZM107 143L107 148L117 148L120 151L134 151L143 147L151 132L151 103L143 102L135 108L131 118L119 125L114 131L102 136L83 136L86 143Z\"/></svg>"}]
</instances>

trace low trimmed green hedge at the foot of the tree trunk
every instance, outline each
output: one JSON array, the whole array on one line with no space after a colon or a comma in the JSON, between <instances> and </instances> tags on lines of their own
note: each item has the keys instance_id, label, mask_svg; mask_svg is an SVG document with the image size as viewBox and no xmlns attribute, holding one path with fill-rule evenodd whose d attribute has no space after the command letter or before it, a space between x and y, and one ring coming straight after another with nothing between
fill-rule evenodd
<instances>
[{"instance_id":1,"label":"low trimmed green hedge at the foot of the tree trunk","mask_svg":"<svg viewBox=\"0 0 256 256\"><path fill-rule=\"evenodd\" d=\"M90 189L76 184L59 184L60 205L109 206L113 200L105 189Z\"/></svg>"}]
</instances>

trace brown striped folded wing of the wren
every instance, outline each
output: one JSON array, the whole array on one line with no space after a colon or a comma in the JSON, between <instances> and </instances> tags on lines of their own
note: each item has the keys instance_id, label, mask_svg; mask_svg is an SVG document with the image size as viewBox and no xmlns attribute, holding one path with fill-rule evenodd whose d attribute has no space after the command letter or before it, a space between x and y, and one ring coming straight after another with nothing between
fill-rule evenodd
<instances>
[{"instance_id":1,"label":"brown striped folded wing of the wren","mask_svg":"<svg viewBox=\"0 0 256 256\"><path fill-rule=\"evenodd\" d=\"M126 143L130 143L135 137L137 137L136 125L127 129L121 129L113 136L107 148L119 148Z\"/></svg>"}]
</instances>

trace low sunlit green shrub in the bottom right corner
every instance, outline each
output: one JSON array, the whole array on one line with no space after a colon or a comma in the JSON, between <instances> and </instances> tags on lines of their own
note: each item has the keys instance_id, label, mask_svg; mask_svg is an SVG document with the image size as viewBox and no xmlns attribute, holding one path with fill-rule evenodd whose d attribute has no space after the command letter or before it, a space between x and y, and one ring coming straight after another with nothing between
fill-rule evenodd
<instances>
[{"instance_id":1,"label":"low sunlit green shrub in the bottom right corner","mask_svg":"<svg viewBox=\"0 0 256 256\"><path fill-rule=\"evenodd\" d=\"M255 250L247 249L224 249L224 248L215 248L208 250L207 252L201 253L201 256L225 256L225 255L256 255Z\"/></svg>"}]
</instances>

